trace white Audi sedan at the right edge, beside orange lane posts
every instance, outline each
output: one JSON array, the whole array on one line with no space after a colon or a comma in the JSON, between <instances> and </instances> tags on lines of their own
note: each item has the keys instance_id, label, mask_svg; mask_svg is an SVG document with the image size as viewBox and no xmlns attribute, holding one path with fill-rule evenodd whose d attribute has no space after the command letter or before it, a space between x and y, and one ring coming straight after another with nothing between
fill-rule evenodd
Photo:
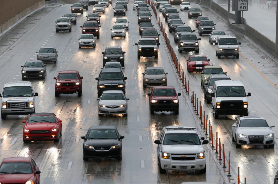
<instances>
[{"instance_id":1,"label":"white Audi sedan at the right edge, beside orange lane posts","mask_svg":"<svg viewBox=\"0 0 278 184\"><path fill-rule=\"evenodd\" d=\"M273 127L260 116L240 117L232 126L232 141L237 148L241 145L268 145L274 148Z\"/></svg>"}]
</instances>

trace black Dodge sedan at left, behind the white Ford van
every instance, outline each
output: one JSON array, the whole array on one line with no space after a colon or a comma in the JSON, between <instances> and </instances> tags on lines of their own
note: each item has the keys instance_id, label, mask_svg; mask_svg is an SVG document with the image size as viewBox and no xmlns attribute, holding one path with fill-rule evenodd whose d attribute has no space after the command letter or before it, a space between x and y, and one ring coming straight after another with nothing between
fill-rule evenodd
<instances>
[{"instance_id":1,"label":"black Dodge sedan at left, behind the white Ford van","mask_svg":"<svg viewBox=\"0 0 278 184\"><path fill-rule=\"evenodd\" d=\"M24 66L21 66L22 80L27 78L42 78L46 76L46 65L42 61L27 61Z\"/></svg>"}]
</instances>

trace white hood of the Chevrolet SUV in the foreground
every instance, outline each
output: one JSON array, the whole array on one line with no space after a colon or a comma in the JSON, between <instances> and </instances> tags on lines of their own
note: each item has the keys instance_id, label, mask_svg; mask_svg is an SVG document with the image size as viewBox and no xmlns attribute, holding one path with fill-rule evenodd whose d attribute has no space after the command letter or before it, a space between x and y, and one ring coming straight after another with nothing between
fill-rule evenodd
<instances>
[{"instance_id":1,"label":"white hood of the Chevrolet SUV in the foreground","mask_svg":"<svg viewBox=\"0 0 278 184\"><path fill-rule=\"evenodd\" d=\"M173 144L163 145L165 153L203 153L202 145L191 145L191 144Z\"/></svg>"}]
</instances>

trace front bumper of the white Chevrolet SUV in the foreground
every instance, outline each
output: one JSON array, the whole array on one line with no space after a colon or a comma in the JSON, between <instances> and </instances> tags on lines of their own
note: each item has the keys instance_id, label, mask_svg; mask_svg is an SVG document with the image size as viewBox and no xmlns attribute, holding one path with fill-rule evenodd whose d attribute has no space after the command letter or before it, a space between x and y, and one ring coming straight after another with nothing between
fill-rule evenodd
<instances>
[{"instance_id":1,"label":"front bumper of the white Chevrolet SUV in the foreground","mask_svg":"<svg viewBox=\"0 0 278 184\"><path fill-rule=\"evenodd\" d=\"M204 159L177 160L177 161L171 159L160 159L160 164L161 164L161 168L166 170L177 170L177 171L201 170L204 169L206 166L206 159L204 158Z\"/></svg>"}]
</instances>

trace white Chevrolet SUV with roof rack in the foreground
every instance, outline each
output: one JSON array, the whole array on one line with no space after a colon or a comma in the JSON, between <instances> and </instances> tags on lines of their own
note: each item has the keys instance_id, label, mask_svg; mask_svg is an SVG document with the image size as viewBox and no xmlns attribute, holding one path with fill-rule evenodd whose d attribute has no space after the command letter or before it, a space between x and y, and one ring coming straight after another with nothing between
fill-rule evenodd
<instances>
[{"instance_id":1,"label":"white Chevrolet SUV with roof rack in the foreground","mask_svg":"<svg viewBox=\"0 0 278 184\"><path fill-rule=\"evenodd\" d=\"M199 138L195 127L163 127L158 144L158 167L160 173L166 170L200 170L206 173L206 159L203 144L208 144L204 137ZM201 142L201 140L203 140Z\"/></svg>"}]
</instances>

